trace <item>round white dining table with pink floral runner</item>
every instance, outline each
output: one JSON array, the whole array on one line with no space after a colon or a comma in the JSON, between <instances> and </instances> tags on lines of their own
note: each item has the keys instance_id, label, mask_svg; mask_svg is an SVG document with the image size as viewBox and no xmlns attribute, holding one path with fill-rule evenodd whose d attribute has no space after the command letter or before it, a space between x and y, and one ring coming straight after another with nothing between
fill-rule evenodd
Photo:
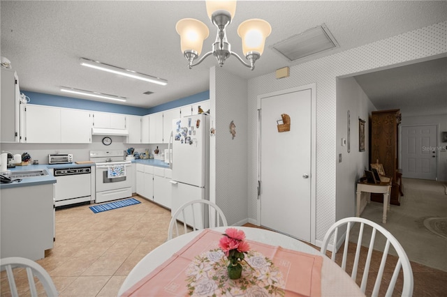
<instances>
[{"instance_id":1,"label":"round white dining table with pink floral runner","mask_svg":"<svg viewBox=\"0 0 447 297\"><path fill-rule=\"evenodd\" d=\"M312 245L255 227L231 227L244 231L253 251L245 257L243 280L228 280L226 275L217 273L218 262L223 260L210 261L219 252L219 257L225 258L218 243L227 228L191 231L159 245L131 270L118 296L249 296L244 290L252 284L261 289L253 296L365 296L350 275ZM261 272L256 271L259 263L263 266L259 268ZM194 291L205 280L207 284L201 288L213 291Z\"/></svg>"}]
</instances>

